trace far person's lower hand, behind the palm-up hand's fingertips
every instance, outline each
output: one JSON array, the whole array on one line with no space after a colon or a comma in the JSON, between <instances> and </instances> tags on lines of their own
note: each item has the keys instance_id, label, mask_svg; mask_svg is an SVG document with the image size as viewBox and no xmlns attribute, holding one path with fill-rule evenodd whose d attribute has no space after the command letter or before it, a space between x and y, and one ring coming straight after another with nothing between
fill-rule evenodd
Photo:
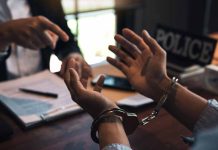
<instances>
[{"instance_id":1,"label":"far person's lower hand, behind the palm-up hand's fingertips","mask_svg":"<svg viewBox=\"0 0 218 150\"><path fill-rule=\"evenodd\" d=\"M79 53L71 53L68 55L63 61L61 65L60 74L62 77L65 76L65 72L69 68L74 68L79 77L91 77L92 76L92 69L84 60L84 58Z\"/></svg>"}]
</instances>

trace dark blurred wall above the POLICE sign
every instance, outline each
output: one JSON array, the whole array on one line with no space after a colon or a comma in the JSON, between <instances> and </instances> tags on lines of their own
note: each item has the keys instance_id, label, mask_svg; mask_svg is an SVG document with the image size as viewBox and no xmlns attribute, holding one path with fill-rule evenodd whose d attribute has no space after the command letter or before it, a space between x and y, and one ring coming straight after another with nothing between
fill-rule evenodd
<instances>
[{"instance_id":1,"label":"dark blurred wall above the POLICE sign","mask_svg":"<svg viewBox=\"0 0 218 150\"><path fill-rule=\"evenodd\" d=\"M133 29L147 29L152 34L158 23L195 34L218 31L218 1L142 0Z\"/></svg>"}]
</instances>

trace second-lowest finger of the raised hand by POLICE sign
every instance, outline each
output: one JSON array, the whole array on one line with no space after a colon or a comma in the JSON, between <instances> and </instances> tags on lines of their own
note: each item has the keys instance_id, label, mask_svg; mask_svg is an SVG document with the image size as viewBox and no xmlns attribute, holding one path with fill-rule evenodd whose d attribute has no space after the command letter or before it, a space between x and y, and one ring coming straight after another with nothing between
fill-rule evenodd
<instances>
[{"instance_id":1,"label":"second-lowest finger of the raised hand by POLICE sign","mask_svg":"<svg viewBox=\"0 0 218 150\"><path fill-rule=\"evenodd\" d=\"M125 52L112 45L110 45L108 49L112 51L116 56L118 56L127 66L131 66L132 58Z\"/></svg>"}]
</instances>

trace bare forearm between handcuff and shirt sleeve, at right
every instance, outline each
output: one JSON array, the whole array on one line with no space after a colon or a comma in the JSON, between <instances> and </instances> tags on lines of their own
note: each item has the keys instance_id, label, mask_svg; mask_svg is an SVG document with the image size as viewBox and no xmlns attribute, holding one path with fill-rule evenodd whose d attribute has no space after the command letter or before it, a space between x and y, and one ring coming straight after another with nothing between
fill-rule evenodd
<instances>
[{"instance_id":1,"label":"bare forearm between handcuff and shirt sleeve, at right","mask_svg":"<svg viewBox=\"0 0 218 150\"><path fill-rule=\"evenodd\" d=\"M182 124L193 130L200 114L207 106L207 100L177 84L169 93L164 106Z\"/></svg>"}]
</instances>

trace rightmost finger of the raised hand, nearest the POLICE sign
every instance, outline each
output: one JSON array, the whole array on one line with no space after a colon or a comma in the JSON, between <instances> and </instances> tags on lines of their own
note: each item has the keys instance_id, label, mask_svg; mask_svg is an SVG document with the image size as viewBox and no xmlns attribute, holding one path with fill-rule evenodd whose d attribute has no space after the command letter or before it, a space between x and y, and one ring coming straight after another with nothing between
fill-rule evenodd
<instances>
[{"instance_id":1,"label":"rightmost finger of the raised hand, nearest the POLICE sign","mask_svg":"<svg viewBox=\"0 0 218 150\"><path fill-rule=\"evenodd\" d=\"M150 47L153 54L162 55L164 50L160 47L155 39L153 39L146 30L143 30L142 37L145 43Z\"/></svg>"}]
</instances>

